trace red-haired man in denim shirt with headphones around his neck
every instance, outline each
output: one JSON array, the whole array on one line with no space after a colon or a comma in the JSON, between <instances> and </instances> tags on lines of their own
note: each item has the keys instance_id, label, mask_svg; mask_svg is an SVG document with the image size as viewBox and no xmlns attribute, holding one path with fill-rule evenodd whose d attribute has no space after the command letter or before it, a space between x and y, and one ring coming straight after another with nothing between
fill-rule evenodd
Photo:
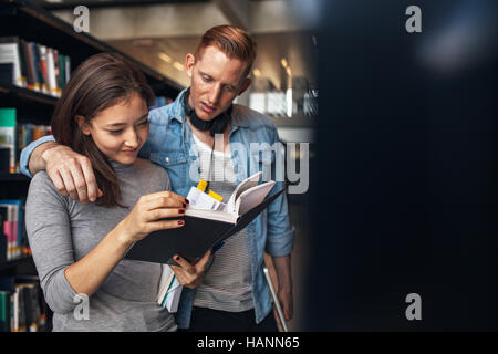
<instances>
[{"instance_id":1,"label":"red-haired man in denim shirt with headphones around his neck","mask_svg":"<svg viewBox=\"0 0 498 354\"><path fill-rule=\"evenodd\" d=\"M278 143L274 125L262 114L232 104L250 85L248 74L255 58L256 43L245 31L230 25L208 30L195 54L186 56L190 87L174 103L149 112L151 135L139 156L168 171L175 192L187 196L190 187L203 178L209 180L210 189L228 198L255 166L274 170L274 156L261 162L260 152L251 154L250 148L251 143L270 146ZM215 144L215 133L222 134L222 144L218 144L219 139ZM30 171L45 169L61 194L82 202L94 201L100 190L89 160L50 139L39 139L23 150L23 173L30 175ZM283 183L277 181L271 194L281 188ZM279 282L278 296L286 319L290 320L293 238L287 197L282 195L226 241L209 269L191 266L191 277L179 280L187 288L176 314L178 327L276 331L262 271L264 251L272 257Z\"/></svg>"}]
</instances>

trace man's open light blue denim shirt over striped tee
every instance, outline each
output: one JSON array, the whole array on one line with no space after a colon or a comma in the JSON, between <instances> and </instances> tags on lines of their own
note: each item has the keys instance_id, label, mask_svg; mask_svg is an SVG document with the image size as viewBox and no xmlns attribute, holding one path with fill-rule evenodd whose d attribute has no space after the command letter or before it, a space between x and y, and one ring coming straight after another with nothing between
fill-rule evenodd
<instances>
[{"instance_id":1,"label":"man's open light blue denim shirt over striped tee","mask_svg":"<svg viewBox=\"0 0 498 354\"><path fill-rule=\"evenodd\" d=\"M191 131L186 123L181 105L186 90L181 91L175 102L149 112L151 133L139 152L142 158L166 168L172 181L173 191L187 196L191 186L199 181L199 160ZM21 171L31 177L28 162L33 149L53 137L43 137L27 146L21 154ZM228 136L237 183L258 170L271 168L271 178L276 179L276 154L271 150L278 143L277 128L262 114L248 107L234 104L231 128ZM232 144L238 143L238 144ZM251 143L263 144L262 148L252 148ZM282 178L279 178L282 179ZM277 180L270 196L284 187ZM246 228L249 257L251 262L252 299L256 322L261 322L271 311L270 293L263 274L263 251L272 257L288 256L292 252L294 231L289 223L287 197L277 198L261 215ZM190 323L195 290L184 288L181 292L176 322L178 327L186 329Z\"/></svg>"}]
</instances>

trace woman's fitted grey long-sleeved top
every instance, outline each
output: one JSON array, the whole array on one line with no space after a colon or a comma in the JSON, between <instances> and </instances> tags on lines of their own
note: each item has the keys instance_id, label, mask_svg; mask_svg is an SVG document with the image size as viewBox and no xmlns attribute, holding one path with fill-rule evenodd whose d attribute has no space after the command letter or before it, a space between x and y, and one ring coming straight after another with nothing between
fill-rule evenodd
<instances>
[{"instance_id":1,"label":"woman's fitted grey long-sleeved top","mask_svg":"<svg viewBox=\"0 0 498 354\"><path fill-rule=\"evenodd\" d=\"M44 298L54 312L53 331L175 331L173 314L156 302L160 264L121 260L87 302L64 275L129 214L141 196L170 188L167 173L148 160L111 163L126 208L83 206L63 197L44 171L31 180L25 225Z\"/></svg>"}]
</instances>

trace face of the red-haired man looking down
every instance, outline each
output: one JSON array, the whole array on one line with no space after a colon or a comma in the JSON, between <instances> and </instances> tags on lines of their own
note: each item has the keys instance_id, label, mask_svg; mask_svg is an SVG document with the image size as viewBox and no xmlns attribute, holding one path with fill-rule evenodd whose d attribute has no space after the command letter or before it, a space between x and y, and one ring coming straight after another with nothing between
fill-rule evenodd
<instances>
[{"instance_id":1,"label":"face of the red-haired man looking down","mask_svg":"<svg viewBox=\"0 0 498 354\"><path fill-rule=\"evenodd\" d=\"M200 58L188 54L185 63L190 76L188 104L203 121L211 121L225 112L250 84L246 77L247 63L230 59L210 45Z\"/></svg>"}]
</instances>

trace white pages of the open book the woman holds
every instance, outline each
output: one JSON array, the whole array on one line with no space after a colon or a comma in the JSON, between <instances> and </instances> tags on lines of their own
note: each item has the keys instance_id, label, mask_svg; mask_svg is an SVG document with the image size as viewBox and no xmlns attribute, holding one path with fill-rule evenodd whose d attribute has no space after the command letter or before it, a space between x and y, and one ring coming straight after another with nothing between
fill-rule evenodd
<instances>
[{"instance_id":1,"label":"white pages of the open book the woman holds","mask_svg":"<svg viewBox=\"0 0 498 354\"><path fill-rule=\"evenodd\" d=\"M242 180L231 194L228 202L221 210L201 209L189 207L185 215L203 219L219 220L236 223L239 217L264 200L274 181L270 180L258 185L262 173L257 173Z\"/></svg>"}]
</instances>

